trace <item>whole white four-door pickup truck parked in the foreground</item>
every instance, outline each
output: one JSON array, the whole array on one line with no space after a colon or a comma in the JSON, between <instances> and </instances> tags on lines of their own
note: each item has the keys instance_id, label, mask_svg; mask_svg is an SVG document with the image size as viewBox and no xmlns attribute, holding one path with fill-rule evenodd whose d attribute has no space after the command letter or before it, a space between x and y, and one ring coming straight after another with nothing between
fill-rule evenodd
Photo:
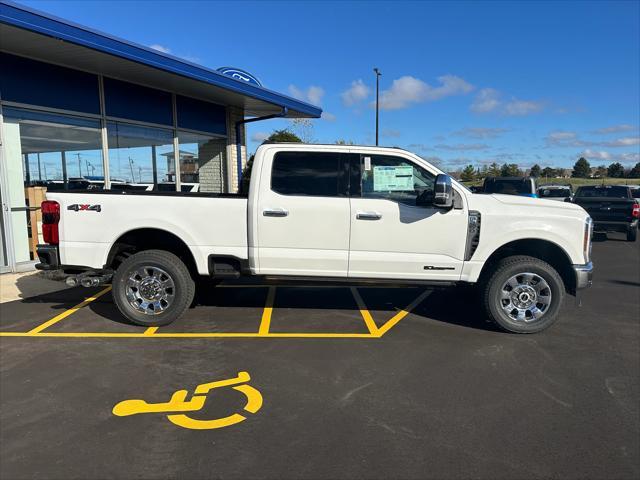
<instances>
[{"instance_id":1,"label":"whole white four-door pickup truck parked in the foreground","mask_svg":"<svg viewBox=\"0 0 640 480\"><path fill-rule=\"evenodd\" d=\"M265 144L248 195L53 192L42 212L37 268L111 282L120 312L146 326L182 315L199 276L255 275L477 284L491 320L532 333L593 269L581 207L473 194L395 148Z\"/></svg>"}]
</instances>

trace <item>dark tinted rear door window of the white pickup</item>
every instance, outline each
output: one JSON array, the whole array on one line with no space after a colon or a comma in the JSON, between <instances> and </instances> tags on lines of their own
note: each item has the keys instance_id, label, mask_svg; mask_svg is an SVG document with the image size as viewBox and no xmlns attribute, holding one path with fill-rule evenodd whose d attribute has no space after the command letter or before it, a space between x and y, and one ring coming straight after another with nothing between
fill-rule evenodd
<instances>
[{"instance_id":1,"label":"dark tinted rear door window of the white pickup","mask_svg":"<svg viewBox=\"0 0 640 480\"><path fill-rule=\"evenodd\" d=\"M282 195L343 196L343 182L339 153L278 152L273 159L271 190Z\"/></svg>"}]
</instances>

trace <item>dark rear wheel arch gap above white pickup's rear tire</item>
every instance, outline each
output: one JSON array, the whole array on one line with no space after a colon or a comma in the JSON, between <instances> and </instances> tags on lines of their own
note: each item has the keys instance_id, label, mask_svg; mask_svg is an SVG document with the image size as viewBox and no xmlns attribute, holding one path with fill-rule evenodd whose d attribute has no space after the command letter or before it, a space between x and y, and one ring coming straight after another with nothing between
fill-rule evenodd
<instances>
[{"instance_id":1,"label":"dark rear wheel arch gap above white pickup's rear tire","mask_svg":"<svg viewBox=\"0 0 640 480\"><path fill-rule=\"evenodd\" d=\"M135 228L121 234L113 242L105 268L117 269L128 256L145 250L165 250L180 258L193 277L198 275L197 264L191 249L176 234L160 228Z\"/></svg>"}]
</instances>

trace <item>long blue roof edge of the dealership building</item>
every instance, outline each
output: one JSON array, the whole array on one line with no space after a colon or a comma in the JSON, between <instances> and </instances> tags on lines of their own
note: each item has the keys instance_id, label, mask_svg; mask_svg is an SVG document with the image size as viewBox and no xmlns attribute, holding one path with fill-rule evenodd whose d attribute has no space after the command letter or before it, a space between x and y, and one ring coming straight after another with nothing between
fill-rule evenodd
<instances>
[{"instance_id":1,"label":"long blue roof edge of the dealership building","mask_svg":"<svg viewBox=\"0 0 640 480\"><path fill-rule=\"evenodd\" d=\"M192 80L224 88L246 97L286 107L295 117L296 113L319 118L322 109L295 98L258 87L224 75L201 65L173 55L130 42L98 30L70 22L48 13L0 0L0 23L64 40L92 50L123 58L159 70L174 73Z\"/></svg>"}]
</instances>

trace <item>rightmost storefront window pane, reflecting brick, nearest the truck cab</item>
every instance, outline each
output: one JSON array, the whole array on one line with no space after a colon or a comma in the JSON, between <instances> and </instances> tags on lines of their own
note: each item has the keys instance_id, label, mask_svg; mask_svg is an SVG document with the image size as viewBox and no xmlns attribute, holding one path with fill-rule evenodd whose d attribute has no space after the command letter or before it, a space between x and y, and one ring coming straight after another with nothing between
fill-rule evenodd
<instances>
[{"instance_id":1,"label":"rightmost storefront window pane, reflecting brick, nearest the truck cab","mask_svg":"<svg viewBox=\"0 0 640 480\"><path fill-rule=\"evenodd\" d=\"M179 131L178 143L182 191L224 192L226 138ZM172 173L171 181L175 182Z\"/></svg>"}]
</instances>

